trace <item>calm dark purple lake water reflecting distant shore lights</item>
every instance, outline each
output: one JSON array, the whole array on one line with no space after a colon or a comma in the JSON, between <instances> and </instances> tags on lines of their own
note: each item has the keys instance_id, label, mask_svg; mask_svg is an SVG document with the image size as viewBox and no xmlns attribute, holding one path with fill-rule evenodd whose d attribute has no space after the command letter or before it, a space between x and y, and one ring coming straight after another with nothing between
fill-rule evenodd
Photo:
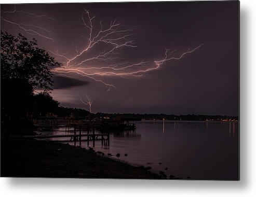
<instances>
[{"instance_id":1,"label":"calm dark purple lake water reflecting distant shore lights","mask_svg":"<svg viewBox=\"0 0 256 197\"><path fill-rule=\"evenodd\" d=\"M87 142L82 142L82 147L87 147ZM168 177L239 177L238 122L138 121L136 131L110 133L110 146L102 146L99 140L95 150L112 153L116 159L120 153L119 160L151 166L153 172L164 171Z\"/></svg>"}]
</instances>

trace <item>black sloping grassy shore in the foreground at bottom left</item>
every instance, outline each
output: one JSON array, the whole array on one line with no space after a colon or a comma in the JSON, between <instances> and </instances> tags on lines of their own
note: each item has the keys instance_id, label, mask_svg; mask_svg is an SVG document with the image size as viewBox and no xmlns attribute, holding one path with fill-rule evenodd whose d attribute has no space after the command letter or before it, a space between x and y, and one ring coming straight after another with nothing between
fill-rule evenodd
<instances>
[{"instance_id":1,"label":"black sloping grassy shore in the foreground at bottom left","mask_svg":"<svg viewBox=\"0 0 256 197\"><path fill-rule=\"evenodd\" d=\"M2 177L131 178L160 176L85 148L39 140L1 140Z\"/></svg>"}]
</instances>

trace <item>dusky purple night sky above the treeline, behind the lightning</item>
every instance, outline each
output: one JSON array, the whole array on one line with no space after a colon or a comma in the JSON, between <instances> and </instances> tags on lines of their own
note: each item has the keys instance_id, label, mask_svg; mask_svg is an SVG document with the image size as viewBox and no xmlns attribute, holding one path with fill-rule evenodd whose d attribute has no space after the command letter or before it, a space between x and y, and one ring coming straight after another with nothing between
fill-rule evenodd
<instances>
[{"instance_id":1,"label":"dusky purple night sky above the treeline, behind the lightning","mask_svg":"<svg viewBox=\"0 0 256 197\"><path fill-rule=\"evenodd\" d=\"M72 59L89 44L85 24L90 23L83 8L95 16L92 38L100 31L100 21L102 30L111 21L120 23L119 32L104 37L105 42L66 67L66 58ZM62 106L88 110L80 101L87 95L92 112L238 116L238 1L1 5L1 17L2 31L36 38L39 47L61 63L53 71L51 95ZM125 35L114 46L125 42L129 46L113 50L107 60L95 58L111 50L111 40ZM178 60L157 62L165 59L166 49L168 58L191 52ZM58 72L66 68L72 72ZM85 69L86 75L74 73L77 68Z\"/></svg>"}]
</instances>

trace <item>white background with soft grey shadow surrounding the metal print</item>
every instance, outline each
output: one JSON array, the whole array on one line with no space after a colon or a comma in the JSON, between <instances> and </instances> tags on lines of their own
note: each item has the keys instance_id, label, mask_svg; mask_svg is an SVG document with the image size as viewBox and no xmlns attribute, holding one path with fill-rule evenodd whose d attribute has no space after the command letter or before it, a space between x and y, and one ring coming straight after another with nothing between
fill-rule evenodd
<instances>
[{"instance_id":1,"label":"white background with soft grey shadow surrounding the metal print","mask_svg":"<svg viewBox=\"0 0 256 197\"><path fill-rule=\"evenodd\" d=\"M15 1L6 3L64 3L71 1ZM86 1L74 1L86 2ZM92 1L106 2L106 1ZM120 1L110 1L120 2ZM127 1L130 2L130 1ZM255 0L240 1L240 181L168 181L120 179L0 178L0 196L254 196L256 193L256 153L254 117ZM254 63L254 64L253 64ZM254 194L253 194L254 193Z\"/></svg>"}]
</instances>

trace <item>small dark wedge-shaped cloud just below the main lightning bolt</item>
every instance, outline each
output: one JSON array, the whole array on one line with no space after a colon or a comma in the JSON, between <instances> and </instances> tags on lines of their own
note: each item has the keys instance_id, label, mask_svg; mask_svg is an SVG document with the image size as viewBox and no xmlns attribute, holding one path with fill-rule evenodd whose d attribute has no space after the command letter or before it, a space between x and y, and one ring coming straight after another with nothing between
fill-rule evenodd
<instances>
[{"instance_id":1,"label":"small dark wedge-shaped cloud just below the main lightning bolt","mask_svg":"<svg viewBox=\"0 0 256 197\"><path fill-rule=\"evenodd\" d=\"M70 77L53 76L54 87L53 89L64 89L77 86L89 85L89 81L82 81Z\"/></svg>"}]
</instances>

